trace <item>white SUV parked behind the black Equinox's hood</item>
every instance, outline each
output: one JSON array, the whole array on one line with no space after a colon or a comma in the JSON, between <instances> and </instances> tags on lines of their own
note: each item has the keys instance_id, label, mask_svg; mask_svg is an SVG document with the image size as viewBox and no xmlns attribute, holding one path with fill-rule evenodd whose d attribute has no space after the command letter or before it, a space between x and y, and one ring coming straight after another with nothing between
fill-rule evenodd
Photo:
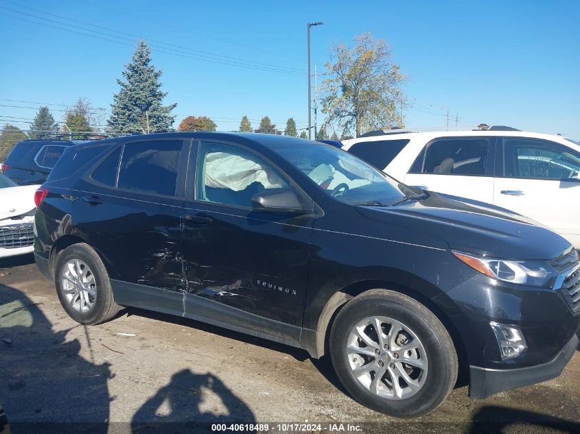
<instances>
[{"instance_id":1,"label":"white SUV parked behind the black Equinox's hood","mask_svg":"<svg viewBox=\"0 0 580 434\"><path fill-rule=\"evenodd\" d=\"M580 144L518 130L378 131L343 149L420 189L507 208L580 249Z\"/></svg>"}]
</instances>

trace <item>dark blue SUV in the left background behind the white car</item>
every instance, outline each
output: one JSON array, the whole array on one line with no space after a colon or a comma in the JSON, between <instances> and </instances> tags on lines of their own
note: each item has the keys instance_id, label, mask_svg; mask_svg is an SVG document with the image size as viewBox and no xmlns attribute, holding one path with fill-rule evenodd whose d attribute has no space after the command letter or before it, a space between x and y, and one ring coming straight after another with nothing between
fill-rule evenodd
<instances>
[{"instance_id":1,"label":"dark blue SUV in the left background behind the white car","mask_svg":"<svg viewBox=\"0 0 580 434\"><path fill-rule=\"evenodd\" d=\"M19 185L42 184L67 147L102 137L102 134L85 133L40 134L38 138L16 143L2 171Z\"/></svg>"}]
</instances>

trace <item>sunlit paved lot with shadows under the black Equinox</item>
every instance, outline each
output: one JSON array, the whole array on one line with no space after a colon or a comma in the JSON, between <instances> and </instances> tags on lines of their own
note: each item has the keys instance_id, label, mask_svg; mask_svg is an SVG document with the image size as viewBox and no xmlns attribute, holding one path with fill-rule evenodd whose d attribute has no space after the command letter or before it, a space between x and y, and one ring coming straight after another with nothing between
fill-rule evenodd
<instances>
[{"instance_id":1,"label":"sunlit paved lot with shadows under the black Equinox","mask_svg":"<svg viewBox=\"0 0 580 434\"><path fill-rule=\"evenodd\" d=\"M553 381L478 401L459 387L431 415L394 420L351 400L329 361L302 350L137 309L80 326L30 256L0 260L0 339L0 404L14 433L50 426L23 422L63 421L108 422L95 433L231 421L268 422L270 432L305 421L369 433L580 432L580 350Z\"/></svg>"}]
</instances>

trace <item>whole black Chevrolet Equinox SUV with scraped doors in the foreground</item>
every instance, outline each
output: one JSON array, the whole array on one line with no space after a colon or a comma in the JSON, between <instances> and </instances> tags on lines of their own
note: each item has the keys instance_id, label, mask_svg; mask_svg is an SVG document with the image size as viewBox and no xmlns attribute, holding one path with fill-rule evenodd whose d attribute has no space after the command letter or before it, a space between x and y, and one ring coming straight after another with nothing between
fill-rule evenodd
<instances>
[{"instance_id":1,"label":"whole black Chevrolet Equinox SUV with scraped doors in the foreground","mask_svg":"<svg viewBox=\"0 0 580 434\"><path fill-rule=\"evenodd\" d=\"M119 306L330 353L399 417L553 378L578 346L568 241L494 206L412 189L336 147L167 133L65 149L34 252L82 324Z\"/></svg>"}]
</instances>

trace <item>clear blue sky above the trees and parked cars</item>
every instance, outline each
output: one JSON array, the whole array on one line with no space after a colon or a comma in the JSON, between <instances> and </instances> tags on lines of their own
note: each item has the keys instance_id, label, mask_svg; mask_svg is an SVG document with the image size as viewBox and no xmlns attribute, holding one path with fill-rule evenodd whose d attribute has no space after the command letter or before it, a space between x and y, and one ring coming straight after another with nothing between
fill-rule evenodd
<instances>
[{"instance_id":1,"label":"clear blue sky above the trees and parked cars","mask_svg":"<svg viewBox=\"0 0 580 434\"><path fill-rule=\"evenodd\" d=\"M254 128L266 115L280 129L288 117L306 128L315 21L320 73L333 45L364 32L386 40L409 77L408 128L445 128L449 112L452 128L580 138L578 0L0 0L0 125L26 128L40 104L60 121L79 97L109 110L142 38L163 71L165 103L178 104L175 128L187 115L223 131L243 115Z\"/></svg>"}]
</instances>

